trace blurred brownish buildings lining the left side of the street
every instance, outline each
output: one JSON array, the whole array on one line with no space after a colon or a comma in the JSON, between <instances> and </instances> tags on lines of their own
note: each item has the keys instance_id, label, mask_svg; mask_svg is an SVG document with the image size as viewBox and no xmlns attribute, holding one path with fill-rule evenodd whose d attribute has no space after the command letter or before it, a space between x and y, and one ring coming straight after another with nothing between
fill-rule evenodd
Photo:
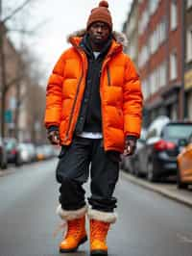
<instances>
[{"instance_id":1,"label":"blurred brownish buildings lining the left side of the street","mask_svg":"<svg viewBox=\"0 0 192 256\"><path fill-rule=\"evenodd\" d=\"M0 141L45 141L45 90L32 76L28 53L16 49L0 23Z\"/></svg>"}]
</instances>

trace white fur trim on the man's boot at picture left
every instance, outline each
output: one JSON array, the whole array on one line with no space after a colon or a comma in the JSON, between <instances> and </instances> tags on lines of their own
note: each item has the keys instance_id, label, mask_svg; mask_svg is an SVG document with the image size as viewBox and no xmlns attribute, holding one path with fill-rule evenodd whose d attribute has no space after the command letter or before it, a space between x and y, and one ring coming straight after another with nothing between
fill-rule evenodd
<instances>
[{"instance_id":1,"label":"white fur trim on the man's boot at picture left","mask_svg":"<svg viewBox=\"0 0 192 256\"><path fill-rule=\"evenodd\" d=\"M78 210L63 210L61 208L61 205L59 205L59 207L56 210L57 215L60 216L60 218L64 219L64 220L72 220L75 218L82 218L85 213L87 212L87 206L84 206L81 209Z\"/></svg>"}]
</instances>

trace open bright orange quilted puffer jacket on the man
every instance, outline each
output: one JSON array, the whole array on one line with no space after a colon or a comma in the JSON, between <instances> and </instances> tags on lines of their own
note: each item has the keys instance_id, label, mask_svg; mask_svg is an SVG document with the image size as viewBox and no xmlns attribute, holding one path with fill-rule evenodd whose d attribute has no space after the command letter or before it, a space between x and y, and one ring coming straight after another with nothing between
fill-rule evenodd
<instances>
[{"instance_id":1,"label":"open bright orange quilted puffer jacket on the man","mask_svg":"<svg viewBox=\"0 0 192 256\"><path fill-rule=\"evenodd\" d=\"M72 141L84 97L87 60L81 39L70 38L72 47L61 55L47 86L45 126L60 126L65 145ZM140 136L142 92L132 61L115 38L102 65L100 96L105 150L123 152L126 136Z\"/></svg>"}]
</instances>

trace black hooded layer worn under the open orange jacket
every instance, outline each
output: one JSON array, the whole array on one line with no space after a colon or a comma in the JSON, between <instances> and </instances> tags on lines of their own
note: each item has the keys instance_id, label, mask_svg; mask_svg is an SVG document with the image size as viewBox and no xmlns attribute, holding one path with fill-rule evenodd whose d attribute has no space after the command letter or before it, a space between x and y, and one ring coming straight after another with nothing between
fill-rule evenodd
<instances>
[{"instance_id":1,"label":"black hooded layer worn under the open orange jacket","mask_svg":"<svg viewBox=\"0 0 192 256\"><path fill-rule=\"evenodd\" d=\"M111 37L108 38L107 43L104 45L97 59L94 57L88 35L84 36L80 45L86 54L88 70L86 74L84 98L75 133L76 135L82 132L102 133L100 77L103 61L111 45Z\"/></svg>"}]
</instances>

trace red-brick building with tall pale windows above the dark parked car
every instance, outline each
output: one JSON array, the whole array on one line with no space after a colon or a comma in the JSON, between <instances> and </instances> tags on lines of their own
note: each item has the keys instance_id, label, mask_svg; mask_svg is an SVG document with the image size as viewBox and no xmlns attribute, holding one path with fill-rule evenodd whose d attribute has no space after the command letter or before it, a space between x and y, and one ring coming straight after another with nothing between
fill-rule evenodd
<instances>
[{"instance_id":1,"label":"red-brick building with tall pale windows above the dark parked car","mask_svg":"<svg viewBox=\"0 0 192 256\"><path fill-rule=\"evenodd\" d=\"M139 71L149 121L183 116L182 0L141 0Z\"/></svg>"}]
</instances>

